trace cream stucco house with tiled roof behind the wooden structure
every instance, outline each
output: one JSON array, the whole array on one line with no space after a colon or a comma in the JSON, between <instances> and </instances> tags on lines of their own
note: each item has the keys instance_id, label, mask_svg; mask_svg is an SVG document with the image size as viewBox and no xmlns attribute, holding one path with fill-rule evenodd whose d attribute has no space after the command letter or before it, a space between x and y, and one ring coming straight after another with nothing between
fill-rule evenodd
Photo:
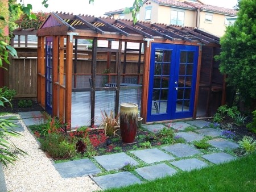
<instances>
[{"instance_id":1,"label":"cream stucco house with tiled roof behind the wooden structure","mask_svg":"<svg viewBox=\"0 0 256 192\"><path fill-rule=\"evenodd\" d=\"M133 19L124 14L124 9L105 12L114 19ZM196 27L216 36L224 35L227 19L237 15L237 11L212 5L205 5L197 0L146 0L137 19L151 23L175 24L182 27Z\"/></svg>"}]
</instances>

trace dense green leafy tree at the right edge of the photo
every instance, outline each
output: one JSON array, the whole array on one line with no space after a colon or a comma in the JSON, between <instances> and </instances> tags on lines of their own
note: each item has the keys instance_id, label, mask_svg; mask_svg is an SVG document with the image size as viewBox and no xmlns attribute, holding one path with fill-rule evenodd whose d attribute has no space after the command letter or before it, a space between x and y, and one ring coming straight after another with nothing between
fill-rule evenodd
<instances>
[{"instance_id":1,"label":"dense green leafy tree at the right edge of the photo","mask_svg":"<svg viewBox=\"0 0 256 192\"><path fill-rule=\"evenodd\" d=\"M221 37L220 71L241 98L256 99L256 1L238 2L238 18Z\"/></svg>"}]
</instances>

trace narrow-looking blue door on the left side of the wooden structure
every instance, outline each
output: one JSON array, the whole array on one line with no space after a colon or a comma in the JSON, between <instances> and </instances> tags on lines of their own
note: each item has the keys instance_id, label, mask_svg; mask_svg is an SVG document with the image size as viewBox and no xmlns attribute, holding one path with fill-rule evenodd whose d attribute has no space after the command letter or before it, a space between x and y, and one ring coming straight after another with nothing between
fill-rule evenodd
<instances>
[{"instance_id":1,"label":"narrow-looking blue door on the left side of the wooden structure","mask_svg":"<svg viewBox=\"0 0 256 192\"><path fill-rule=\"evenodd\" d=\"M52 37L46 37L46 111L52 115Z\"/></svg>"}]
</instances>

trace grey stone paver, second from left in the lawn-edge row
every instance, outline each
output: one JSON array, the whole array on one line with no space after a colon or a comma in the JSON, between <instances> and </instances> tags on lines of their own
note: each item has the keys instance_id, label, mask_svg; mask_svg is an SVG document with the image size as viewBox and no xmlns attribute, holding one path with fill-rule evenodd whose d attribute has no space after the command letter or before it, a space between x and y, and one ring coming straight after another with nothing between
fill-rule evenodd
<instances>
[{"instance_id":1,"label":"grey stone paver, second from left in the lawn-edge row","mask_svg":"<svg viewBox=\"0 0 256 192\"><path fill-rule=\"evenodd\" d=\"M135 171L146 180L155 180L156 178L171 176L177 172L174 168L166 164L145 166L135 169Z\"/></svg>"}]
</instances>

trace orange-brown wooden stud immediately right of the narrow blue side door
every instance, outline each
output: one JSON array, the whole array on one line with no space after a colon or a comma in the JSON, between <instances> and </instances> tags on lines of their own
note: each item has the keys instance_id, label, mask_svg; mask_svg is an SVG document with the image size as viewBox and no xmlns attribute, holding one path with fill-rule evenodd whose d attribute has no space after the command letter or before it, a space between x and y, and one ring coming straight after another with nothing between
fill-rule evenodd
<instances>
[{"instance_id":1,"label":"orange-brown wooden stud immediately right of the narrow blue side door","mask_svg":"<svg viewBox=\"0 0 256 192\"><path fill-rule=\"evenodd\" d=\"M59 61L59 36L53 36L53 50L52 50L52 76L53 76L53 82L58 81L58 61ZM57 91L58 86L56 84L53 85L52 90L52 115L57 116L57 104L58 104L58 98L57 98Z\"/></svg>"}]
</instances>

